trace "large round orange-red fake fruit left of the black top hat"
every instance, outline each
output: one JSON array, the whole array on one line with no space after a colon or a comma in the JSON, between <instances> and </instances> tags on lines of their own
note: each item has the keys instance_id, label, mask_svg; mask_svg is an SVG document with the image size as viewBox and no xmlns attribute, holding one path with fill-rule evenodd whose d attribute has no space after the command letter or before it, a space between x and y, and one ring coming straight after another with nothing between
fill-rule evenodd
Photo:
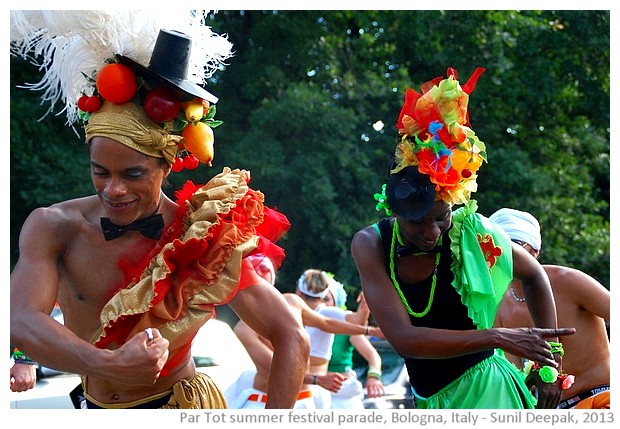
<instances>
[{"instance_id":1,"label":"large round orange-red fake fruit left of the black top hat","mask_svg":"<svg viewBox=\"0 0 620 429\"><path fill-rule=\"evenodd\" d=\"M133 70L119 63L104 66L97 74L96 85L99 94L114 104L130 101L138 91Z\"/></svg>"}]
</instances>

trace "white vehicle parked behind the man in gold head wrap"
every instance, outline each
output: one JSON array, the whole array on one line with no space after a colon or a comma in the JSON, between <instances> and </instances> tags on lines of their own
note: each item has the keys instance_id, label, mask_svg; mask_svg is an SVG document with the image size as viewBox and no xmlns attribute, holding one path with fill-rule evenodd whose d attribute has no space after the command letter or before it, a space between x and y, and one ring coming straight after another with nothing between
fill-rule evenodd
<instances>
[{"instance_id":1,"label":"white vehicle parked behind the man in gold head wrap","mask_svg":"<svg viewBox=\"0 0 620 429\"><path fill-rule=\"evenodd\" d=\"M242 372L256 369L232 328L220 320L211 319L198 331L192 344L192 356L196 369L211 377L222 391ZM10 392L11 408L75 408L69 392L80 384L78 375L46 367L41 367L37 375L33 389Z\"/></svg>"}]
</instances>

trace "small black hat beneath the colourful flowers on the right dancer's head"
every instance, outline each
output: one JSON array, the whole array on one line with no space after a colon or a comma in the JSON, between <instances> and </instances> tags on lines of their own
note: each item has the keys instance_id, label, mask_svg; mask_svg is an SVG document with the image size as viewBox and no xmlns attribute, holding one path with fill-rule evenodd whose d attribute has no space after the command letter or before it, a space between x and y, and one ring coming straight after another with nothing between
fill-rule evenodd
<instances>
[{"instance_id":1,"label":"small black hat beneath the colourful flowers on the right dancer's head","mask_svg":"<svg viewBox=\"0 0 620 429\"><path fill-rule=\"evenodd\" d=\"M394 166L391 162L390 171ZM417 166L409 166L389 175L385 195L392 213L415 220L431 210L436 192L427 174L420 173Z\"/></svg>"}]
</instances>

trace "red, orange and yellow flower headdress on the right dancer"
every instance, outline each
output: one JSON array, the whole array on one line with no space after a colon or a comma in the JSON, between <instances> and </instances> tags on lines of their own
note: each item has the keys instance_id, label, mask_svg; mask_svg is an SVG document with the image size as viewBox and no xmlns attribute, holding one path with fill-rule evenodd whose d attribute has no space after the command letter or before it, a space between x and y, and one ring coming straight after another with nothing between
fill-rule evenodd
<instances>
[{"instance_id":1,"label":"red, orange and yellow flower headdress on the right dancer","mask_svg":"<svg viewBox=\"0 0 620 429\"><path fill-rule=\"evenodd\" d=\"M485 69L478 67L461 86L457 72L448 68L446 79L422 85L422 94L409 88L396 123L396 173L408 166L430 177L436 200L466 204L477 189L476 172L486 161L486 149L469 128L467 104Z\"/></svg>"}]
</instances>

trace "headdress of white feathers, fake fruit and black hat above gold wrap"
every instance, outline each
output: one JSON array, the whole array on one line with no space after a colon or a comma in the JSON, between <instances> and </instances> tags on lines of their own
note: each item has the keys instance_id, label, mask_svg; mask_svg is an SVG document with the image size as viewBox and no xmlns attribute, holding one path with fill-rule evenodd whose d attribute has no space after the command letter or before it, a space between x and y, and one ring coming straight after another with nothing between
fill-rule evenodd
<instances>
[{"instance_id":1,"label":"headdress of white feathers, fake fruit and black hat above gold wrap","mask_svg":"<svg viewBox=\"0 0 620 429\"><path fill-rule=\"evenodd\" d=\"M232 44L206 19L206 11L169 9L11 11L11 54L45 72L25 87L43 91L47 113L64 105L59 113L68 125L87 127L103 112L112 121L130 116L128 126L137 121L157 135L134 148L180 171L211 165L212 128L221 124L214 119L217 97L200 85L232 55ZM180 45L158 49L160 41Z\"/></svg>"}]
</instances>

